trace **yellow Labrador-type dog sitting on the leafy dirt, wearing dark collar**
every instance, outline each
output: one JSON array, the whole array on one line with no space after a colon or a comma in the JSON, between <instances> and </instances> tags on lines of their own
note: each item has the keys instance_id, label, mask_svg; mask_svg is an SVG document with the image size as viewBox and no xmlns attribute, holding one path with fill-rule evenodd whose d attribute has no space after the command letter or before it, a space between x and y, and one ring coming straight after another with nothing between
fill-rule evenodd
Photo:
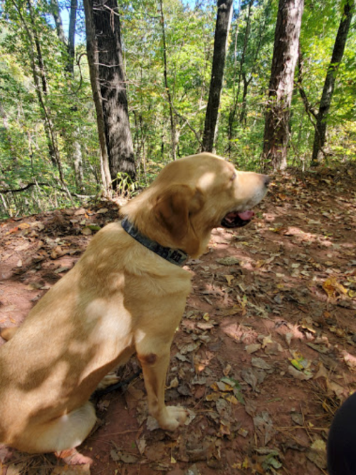
<instances>
[{"instance_id":1,"label":"yellow Labrador-type dog sitting on the leafy dirt, wearing dark collar","mask_svg":"<svg viewBox=\"0 0 356 475\"><path fill-rule=\"evenodd\" d=\"M89 401L105 375L137 355L150 414L183 424L164 404L174 332L191 291L182 268L211 230L244 226L269 178L203 152L169 163L90 241L78 263L0 348L0 442L43 453L75 450L96 422Z\"/></svg>"}]
</instances>

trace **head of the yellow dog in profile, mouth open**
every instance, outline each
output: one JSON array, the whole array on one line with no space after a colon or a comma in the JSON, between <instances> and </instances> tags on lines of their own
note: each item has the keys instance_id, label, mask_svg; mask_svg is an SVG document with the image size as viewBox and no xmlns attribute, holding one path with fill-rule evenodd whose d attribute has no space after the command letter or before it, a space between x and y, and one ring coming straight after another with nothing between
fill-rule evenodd
<instances>
[{"instance_id":1,"label":"head of the yellow dog in profile, mouth open","mask_svg":"<svg viewBox=\"0 0 356 475\"><path fill-rule=\"evenodd\" d=\"M211 229L251 221L251 208L265 196L268 182L264 174L239 172L203 152L169 163L122 213L150 239L196 257L204 252Z\"/></svg>"}]
</instances>

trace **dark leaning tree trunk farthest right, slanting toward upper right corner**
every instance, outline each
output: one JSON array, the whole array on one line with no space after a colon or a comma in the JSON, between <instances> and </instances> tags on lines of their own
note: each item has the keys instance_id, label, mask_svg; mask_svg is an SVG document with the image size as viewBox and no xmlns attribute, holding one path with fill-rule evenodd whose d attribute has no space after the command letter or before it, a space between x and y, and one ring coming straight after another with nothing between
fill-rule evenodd
<instances>
[{"instance_id":1,"label":"dark leaning tree trunk farthest right, slanting toward upper right corner","mask_svg":"<svg viewBox=\"0 0 356 475\"><path fill-rule=\"evenodd\" d=\"M319 111L316 117L313 155L310 165L318 165L320 158L325 155L323 147L325 145L326 125L328 121L328 113L330 110L331 100L333 98L337 69L342 61L345 51L347 34L350 29L352 14L355 9L354 0L346 0L342 11L341 21L337 36L335 39L333 55L331 56L328 72L326 73L323 94L320 99Z\"/></svg>"}]
</instances>

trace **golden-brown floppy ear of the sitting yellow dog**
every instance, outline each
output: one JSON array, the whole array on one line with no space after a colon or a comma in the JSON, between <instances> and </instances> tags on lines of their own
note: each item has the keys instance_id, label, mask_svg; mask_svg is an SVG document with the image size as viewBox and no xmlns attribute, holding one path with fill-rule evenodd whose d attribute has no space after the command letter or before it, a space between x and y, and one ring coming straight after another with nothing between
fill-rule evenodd
<instances>
[{"instance_id":1,"label":"golden-brown floppy ear of the sitting yellow dog","mask_svg":"<svg viewBox=\"0 0 356 475\"><path fill-rule=\"evenodd\" d=\"M154 211L174 241L181 241L189 231L189 217L199 212L203 204L204 197L199 189L173 184L158 195Z\"/></svg>"}]
</instances>

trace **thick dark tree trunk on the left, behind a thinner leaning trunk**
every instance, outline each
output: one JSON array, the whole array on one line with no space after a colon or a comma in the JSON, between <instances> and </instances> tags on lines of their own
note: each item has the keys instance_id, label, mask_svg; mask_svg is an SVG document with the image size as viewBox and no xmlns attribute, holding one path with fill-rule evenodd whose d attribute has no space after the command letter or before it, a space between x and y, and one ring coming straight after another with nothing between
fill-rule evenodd
<instances>
[{"instance_id":1,"label":"thick dark tree trunk on the left, behind a thinner leaning trunk","mask_svg":"<svg viewBox=\"0 0 356 475\"><path fill-rule=\"evenodd\" d=\"M98 78L111 179L135 179L135 157L127 106L117 0L88 0L98 46Z\"/></svg>"}]
</instances>

